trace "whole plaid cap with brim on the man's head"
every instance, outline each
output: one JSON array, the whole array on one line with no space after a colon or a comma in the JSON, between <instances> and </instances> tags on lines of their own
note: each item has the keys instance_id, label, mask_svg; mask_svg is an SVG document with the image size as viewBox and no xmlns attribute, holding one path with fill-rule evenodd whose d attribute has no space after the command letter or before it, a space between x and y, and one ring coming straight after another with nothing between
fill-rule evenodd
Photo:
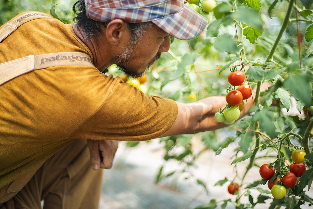
<instances>
[{"instance_id":1,"label":"whole plaid cap with brim on the man's head","mask_svg":"<svg viewBox=\"0 0 313 209\"><path fill-rule=\"evenodd\" d=\"M177 39L197 37L208 20L183 0L85 0L87 17L99 22L122 19L129 23L153 22Z\"/></svg>"}]
</instances>

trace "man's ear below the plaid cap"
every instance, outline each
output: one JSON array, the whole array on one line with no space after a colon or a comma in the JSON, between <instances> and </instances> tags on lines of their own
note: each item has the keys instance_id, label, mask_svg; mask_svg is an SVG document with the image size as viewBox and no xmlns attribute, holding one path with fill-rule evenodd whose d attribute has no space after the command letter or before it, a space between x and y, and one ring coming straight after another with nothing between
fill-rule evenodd
<instances>
[{"instance_id":1,"label":"man's ear below the plaid cap","mask_svg":"<svg viewBox=\"0 0 313 209\"><path fill-rule=\"evenodd\" d=\"M121 19L114 19L106 26L106 39L112 45L119 44L122 38L129 35L127 24Z\"/></svg>"}]
</instances>

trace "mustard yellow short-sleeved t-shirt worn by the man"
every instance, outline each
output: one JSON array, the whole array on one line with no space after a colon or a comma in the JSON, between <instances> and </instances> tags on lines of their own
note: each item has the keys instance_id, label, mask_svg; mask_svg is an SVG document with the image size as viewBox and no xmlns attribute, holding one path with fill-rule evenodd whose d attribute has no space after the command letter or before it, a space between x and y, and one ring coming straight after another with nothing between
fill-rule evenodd
<instances>
[{"instance_id":1,"label":"mustard yellow short-sleeved t-shirt worn by the man","mask_svg":"<svg viewBox=\"0 0 313 209\"><path fill-rule=\"evenodd\" d=\"M0 43L0 63L55 52L92 57L72 25L41 18L19 26ZM171 128L177 112L174 101L144 95L94 67L63 65L18 76L0 86L0 188L74 138L157 138Z\"/></svg>"}]
</instances>

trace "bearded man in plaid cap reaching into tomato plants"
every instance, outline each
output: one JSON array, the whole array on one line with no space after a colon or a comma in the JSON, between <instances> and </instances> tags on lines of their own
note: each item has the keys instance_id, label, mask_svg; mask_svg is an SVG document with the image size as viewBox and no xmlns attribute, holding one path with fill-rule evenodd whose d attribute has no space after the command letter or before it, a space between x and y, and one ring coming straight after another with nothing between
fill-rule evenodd
<instances>
[{"instance_id":1,"label":"bearded man in plaid cap reaching into tomato plants","mask_svg":"<svg viewBox=\"0 0 313 209\"><path fill-rule=\"evenodd\" d=\"M183 1L80 0L77 24L18 15L0 28L0 208L97 208L118 140L150 140L224 126L224 97L183 104L146 96L131 76L207 21ZM252 106L250 99L247 113ZM88 140L86 140L88 139ZM88 144L88 145L87 145ZM90 165L91 159L91 165Z\"/></svg>"}]
</instances>

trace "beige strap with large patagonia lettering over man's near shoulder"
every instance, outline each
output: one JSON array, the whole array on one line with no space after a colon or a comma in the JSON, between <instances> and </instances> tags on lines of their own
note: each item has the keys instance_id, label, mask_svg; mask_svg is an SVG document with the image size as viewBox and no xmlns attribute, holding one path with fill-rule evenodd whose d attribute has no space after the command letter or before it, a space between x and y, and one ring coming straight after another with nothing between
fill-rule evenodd
<instances>
[{"instance_id":1,"label":"beige strap with large patagonia lettering over man's near shoulder","mask_svg":"<svg viewBox=\"0 0 313 209\"><path fill-rule=\"evenodd\" d=\"M59 52L29 55L0 64L0 85L33 70L59 66L85 65L95 67L89 55L82 52Z\"/></svg>"}]
</instances>

